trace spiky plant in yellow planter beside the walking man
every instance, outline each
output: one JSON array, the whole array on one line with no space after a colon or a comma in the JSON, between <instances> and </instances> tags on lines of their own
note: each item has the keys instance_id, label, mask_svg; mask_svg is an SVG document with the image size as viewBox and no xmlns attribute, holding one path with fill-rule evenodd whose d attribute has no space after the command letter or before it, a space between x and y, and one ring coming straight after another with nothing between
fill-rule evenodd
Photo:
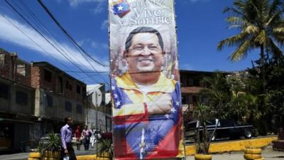
<instances>
[{"instance_id":1,"label":"spiky plant in yellow planter beside the walking man","mask_svg":"<svg viewBox=\"0 0 284 160\"><path fill-rule=\"evenodd\" d=\"M38 151L42 159L60 159L60 149L61 141L59 134L48 134L47 137L40 139L38 144Z\"/></svg>"}]
</instances>

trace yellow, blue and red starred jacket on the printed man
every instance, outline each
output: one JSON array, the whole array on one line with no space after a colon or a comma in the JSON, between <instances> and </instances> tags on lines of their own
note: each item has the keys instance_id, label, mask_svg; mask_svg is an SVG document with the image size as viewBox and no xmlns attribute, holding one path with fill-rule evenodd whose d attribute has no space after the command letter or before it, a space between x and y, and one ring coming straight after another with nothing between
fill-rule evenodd
<instances>
[{"instance_id":1,"label":"yellow, blue and red starred jacket on the printed man","mask_svg":"<svg viewBox=\"0 0 284 160\"><path fill-rule=\"evenodd\" d=\"M170 94L173 108L168 114L148 114L147 103ZM143 93L129 73L111 81L114 122L114 158L165 159L185 156L182 145L180 83L165 77Z\"/></svg>"}]
</instances>

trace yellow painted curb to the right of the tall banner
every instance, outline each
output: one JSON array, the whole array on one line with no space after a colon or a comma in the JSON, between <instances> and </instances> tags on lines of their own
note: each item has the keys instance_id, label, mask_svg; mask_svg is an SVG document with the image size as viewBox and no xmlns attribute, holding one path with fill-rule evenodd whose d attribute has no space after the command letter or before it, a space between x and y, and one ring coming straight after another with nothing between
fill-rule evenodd
<instances>
[{"instance_id":1,"label":"yellow painted curb to the right of the tall banner","mask_svg":"<svg viewBox=\"0 0 284 160\"><path fill-rule=\"evenodd\" d=\"M245 139L234 142L218 142L210 144L209 153L222 153L226 151L242 151L247 147L261 148L267 146L272 141L277 140L277 137L266 137L259 139ZM185 146L187 156L195 154L195 145Z\"/></svg>"}]
</instances>

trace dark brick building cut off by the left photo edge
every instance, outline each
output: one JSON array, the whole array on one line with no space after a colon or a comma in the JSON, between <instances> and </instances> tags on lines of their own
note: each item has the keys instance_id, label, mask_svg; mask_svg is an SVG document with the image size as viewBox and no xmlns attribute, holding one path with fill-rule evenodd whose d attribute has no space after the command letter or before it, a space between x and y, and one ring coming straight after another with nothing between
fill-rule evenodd
<instances>
[{"instance_id":1,"label":"dark brick building cut off by the left photo edge","mask_svg":"<svg viewBox=\"0 0 284 160\"><path fill-rule=\"evenodd\" d=\"M0 49L0 151L24 149L33 139L34 98L31 65Z\"/></svg>"}]
</instances>

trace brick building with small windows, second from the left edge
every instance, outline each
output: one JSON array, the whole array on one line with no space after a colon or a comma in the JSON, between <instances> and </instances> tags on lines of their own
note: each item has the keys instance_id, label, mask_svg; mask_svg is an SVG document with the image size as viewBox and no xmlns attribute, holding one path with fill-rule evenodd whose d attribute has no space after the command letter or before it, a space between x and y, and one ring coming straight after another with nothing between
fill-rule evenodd
<instances>
[{"instance_id":1,"label":"brick building with small windows, second from the left edge","mask_svg":"<svg viewBox=\"0 0 284 160\"><path fill-rule=\"evenodd\" d=\"M75 125L84 124L87 104L84 82L47 62L32 63L31 70L35 116L43 134L59 132L64 117L72 117Z\"/></svg>"}]
</instances>

